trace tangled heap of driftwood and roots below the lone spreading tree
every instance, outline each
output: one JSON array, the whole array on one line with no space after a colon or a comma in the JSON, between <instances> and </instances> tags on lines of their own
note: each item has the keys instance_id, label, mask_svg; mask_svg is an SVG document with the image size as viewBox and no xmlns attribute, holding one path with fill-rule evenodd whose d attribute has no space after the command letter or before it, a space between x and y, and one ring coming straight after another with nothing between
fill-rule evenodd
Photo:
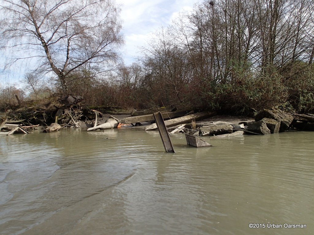
<instances>
[{"instance_id":1,"label":"tangled heap of driftwood and roots below the lone spreading tree","mask_svg":"<svg viewBox=\"0 0 314 235\"><path fill-rule=\"evenodd\" d=\"M19 127L47 127L44 132L51 132L61 127L79 128L81 122L95 119L96 115L102 114L96 110L83 108L79 102L81 96L68 95L61 99L50 97L40 101L26 102L24 107L16 110L8 110L6 117L1 117L1 132L11 131Z\"/></svg>"}]
</instances>

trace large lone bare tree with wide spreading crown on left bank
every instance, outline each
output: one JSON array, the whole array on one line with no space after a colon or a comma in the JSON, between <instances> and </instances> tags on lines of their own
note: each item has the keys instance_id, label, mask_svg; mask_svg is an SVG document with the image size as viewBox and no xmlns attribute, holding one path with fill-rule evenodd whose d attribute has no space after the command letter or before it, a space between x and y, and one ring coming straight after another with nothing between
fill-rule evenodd
<instances>
[{"instance_id":1,"label":"large lone bare tree with wide spreading crown on left bank","mask_svg":"<svg viewBox=\"0 0 314 235\"><path fill-rule=\"evenodd\" d=\"M111 0L2 0L0 7L5 48L19 53L14 61L37 58L64 92L72 72L102 75L118 59L121 22Z\"/></svg>"}]
</instances>

